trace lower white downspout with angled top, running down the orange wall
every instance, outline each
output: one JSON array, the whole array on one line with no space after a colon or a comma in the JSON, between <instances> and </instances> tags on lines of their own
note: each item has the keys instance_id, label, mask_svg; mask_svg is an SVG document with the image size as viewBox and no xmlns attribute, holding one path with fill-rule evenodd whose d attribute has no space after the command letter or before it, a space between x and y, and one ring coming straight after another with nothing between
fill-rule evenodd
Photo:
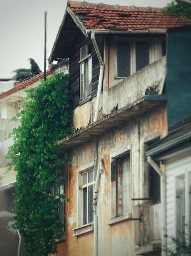
<instances>
[{"instance_id":1,"label":"lower white downspout with angled top, running down the orange wall","mask_svg":"<svg viewBox=\"0 0 191 256\"><path fill-rule=\"evenodd\" d=\"M93 196L93 210L94 210L94 256L97 256L97 215L95 215L95 205L97 203L97 194L99 190L99 181L101 174L104 173L103 160L99 160L97 167L97 175L95 180L94 196Z\"/></svg>"}]
</instances>

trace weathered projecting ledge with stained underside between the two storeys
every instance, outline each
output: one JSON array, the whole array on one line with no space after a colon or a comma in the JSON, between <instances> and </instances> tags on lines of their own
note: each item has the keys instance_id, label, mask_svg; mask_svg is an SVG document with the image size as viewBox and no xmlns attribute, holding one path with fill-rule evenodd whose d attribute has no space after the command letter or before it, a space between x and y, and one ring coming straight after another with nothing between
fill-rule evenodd
<instances>
[{"instance_id":1,"label":"weathered projecting ledge with stained underside between the two storeys","mask_svg":"<svg viewBox=\"0 0 191 256\"><path fill-rule=\"evenodd\" d=\"M146 100L141 98L128 106L105 115L97 122L89 124L65 139L58 141L57 144L62 150L70 150L73 147L88 142L95 135L99 136L129 119L141 116L147 111L151 111L153 108L161 106L164 102L165 100Z\"/></svg>"}]
</instances>

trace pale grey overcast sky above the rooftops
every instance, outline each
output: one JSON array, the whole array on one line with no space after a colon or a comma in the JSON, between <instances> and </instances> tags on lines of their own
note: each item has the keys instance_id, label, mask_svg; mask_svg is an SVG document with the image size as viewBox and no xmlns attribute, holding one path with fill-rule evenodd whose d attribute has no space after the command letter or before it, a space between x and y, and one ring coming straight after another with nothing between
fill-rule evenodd
<instances>
[{"instance_id":1,"label":"pale grey overcast sky above the rooftops","mask_svg":"<svg viewBox=\"0 0 191 256\"><path fill-rule=\"evenodd\" d=\"M164 7L171 0L88 0L91 3ZM0 78L29 68L33 58L44 71L44 12L47 11L47 58L50 56L67 0L1 0ZM48 62L47 62L48 69Z\"/></svg>"}]
</instances>

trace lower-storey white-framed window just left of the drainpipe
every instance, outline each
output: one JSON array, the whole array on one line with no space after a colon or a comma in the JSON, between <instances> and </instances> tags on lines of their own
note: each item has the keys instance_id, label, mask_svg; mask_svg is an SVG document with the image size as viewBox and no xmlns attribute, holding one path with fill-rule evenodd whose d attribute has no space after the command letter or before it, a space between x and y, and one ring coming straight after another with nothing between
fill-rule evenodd
<instances>
[{"instance_id":1,"label":"lower-storey white-framed window just left of the drainpipe","mask_svg":"<svg viewBox=\"0 0 191 256\"><path fill-rule=\"evenodd\" d=\"M82 173L83 225L93 222L94 171Z\"/></svg>"}]
</instances>

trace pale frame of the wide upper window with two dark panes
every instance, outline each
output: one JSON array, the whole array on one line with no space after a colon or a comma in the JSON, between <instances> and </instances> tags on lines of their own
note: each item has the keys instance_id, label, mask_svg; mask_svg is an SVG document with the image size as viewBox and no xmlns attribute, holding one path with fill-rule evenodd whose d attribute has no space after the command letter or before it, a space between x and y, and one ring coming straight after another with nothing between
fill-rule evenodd
<instances>
[{"instance_id":1,"label":"pale frame of the wide upper window with two dark panes","mask_svg":"<svg viewBox=\"0 0 191 256\"><path fill-rule=\"evenodd\" d=\"M130 43L130 76L136 73L136 42L145 41L149 43L149 64L162 57L162 41L164 38L132 38L118 39L115 41L115 56L117 56L117 43ZM141 70L141 69L140 69ZM115 78L122 79L127 76L118 76L118 58L115 58Z\"/></svg>"}]
</instances>

